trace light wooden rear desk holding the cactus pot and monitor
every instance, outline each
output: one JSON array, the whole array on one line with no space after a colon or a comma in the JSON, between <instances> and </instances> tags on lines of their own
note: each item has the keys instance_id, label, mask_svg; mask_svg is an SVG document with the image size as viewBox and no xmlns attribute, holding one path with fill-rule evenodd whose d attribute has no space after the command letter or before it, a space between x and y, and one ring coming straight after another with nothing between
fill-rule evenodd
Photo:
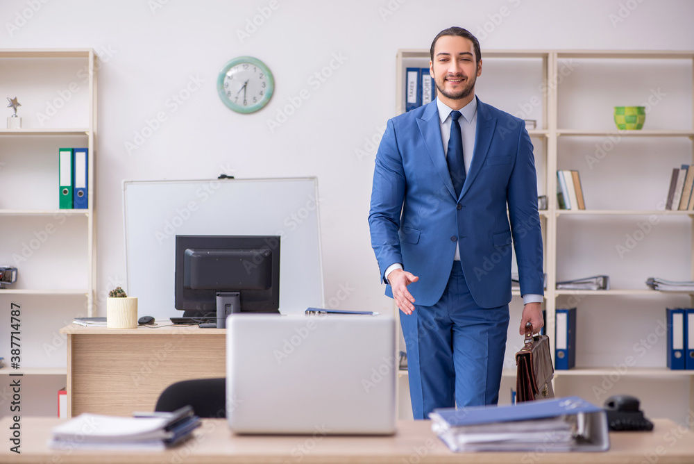
<instances>
[{"instance_id":1,"label":"light wooden rear desk holding the cactus pot and monitor","mask_svg":"<svg viewBox=\"0 0 694 464\"><path fill-rule=\"evenodd\" d=\"M171 383L226 376L224 329L70 324L60 333L67 335L69 417L154 411L160 393Z\"/></svg>"}]
</instances>

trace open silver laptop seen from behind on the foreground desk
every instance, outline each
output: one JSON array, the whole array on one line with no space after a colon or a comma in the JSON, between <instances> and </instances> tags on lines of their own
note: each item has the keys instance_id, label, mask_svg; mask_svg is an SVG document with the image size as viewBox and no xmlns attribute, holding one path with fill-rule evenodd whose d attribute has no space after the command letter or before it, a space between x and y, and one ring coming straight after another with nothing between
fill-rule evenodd
<instances>
[{"instance_id":1,"label":"open silver laptop seen from behind on the foreground desk","mask_svg":"<svg viewBox=\"0 0 694 464\"><path fill-rule=\"evenodd\" d=\"M226 341L235 433L395 432L392 317L235 314Z\"/></svg>"}]
</instances>

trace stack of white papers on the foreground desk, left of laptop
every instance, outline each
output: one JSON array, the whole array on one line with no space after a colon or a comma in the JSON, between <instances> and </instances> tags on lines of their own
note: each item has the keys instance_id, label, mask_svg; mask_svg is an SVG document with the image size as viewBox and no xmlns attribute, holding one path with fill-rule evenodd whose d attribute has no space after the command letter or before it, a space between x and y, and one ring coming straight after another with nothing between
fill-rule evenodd
<instances>
[{"instance_id":1,"label":"stack of white papers on the foreground desk, left of laptop","mask_svg":"<svg viewBox=\"0 0 694 464\"><path fill-rule=\"evenodd\" d=\"M200 425L190 406L147 417L81 414L53 429L55 449L164 449L192 436Z\"/></svg>"}]
</instances>

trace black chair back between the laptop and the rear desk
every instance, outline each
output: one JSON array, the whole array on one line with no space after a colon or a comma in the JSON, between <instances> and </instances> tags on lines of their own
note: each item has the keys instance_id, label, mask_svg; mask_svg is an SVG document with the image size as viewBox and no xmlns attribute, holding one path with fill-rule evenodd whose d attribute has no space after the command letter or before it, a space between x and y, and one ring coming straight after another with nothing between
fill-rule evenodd
<instances>
[{"instance_id":1,"label":"black chair back between the laptop and the rear desk","mask_svg":"<svg viewBox=\"0 0 694 464\"><path fill-rule=\"evenodd\" d=\"M226 417L226 379L194 379L176 382L159 395L154 411L171 412L193 406L199 417Z\"/></svg>"}]
</instances>

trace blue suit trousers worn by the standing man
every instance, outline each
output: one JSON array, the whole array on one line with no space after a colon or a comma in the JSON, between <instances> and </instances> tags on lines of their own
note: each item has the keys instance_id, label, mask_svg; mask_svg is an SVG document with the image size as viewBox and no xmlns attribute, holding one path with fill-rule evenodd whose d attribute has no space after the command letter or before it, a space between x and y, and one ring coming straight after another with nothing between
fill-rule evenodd
<instances>
[{"instance_id":1,"label":"blue suit trousers worn by the standing man","mask_svg":"<svg viewBox=\"0 0 694 464\"><path fill-rule=\"evenodd\" d=\"M421 276L425 279L425 276ZM460 261L441 299L400 313L415 419L434 408L497 404L509 327L509 305L480 308Z\"/></svg>"}]
</instances>

